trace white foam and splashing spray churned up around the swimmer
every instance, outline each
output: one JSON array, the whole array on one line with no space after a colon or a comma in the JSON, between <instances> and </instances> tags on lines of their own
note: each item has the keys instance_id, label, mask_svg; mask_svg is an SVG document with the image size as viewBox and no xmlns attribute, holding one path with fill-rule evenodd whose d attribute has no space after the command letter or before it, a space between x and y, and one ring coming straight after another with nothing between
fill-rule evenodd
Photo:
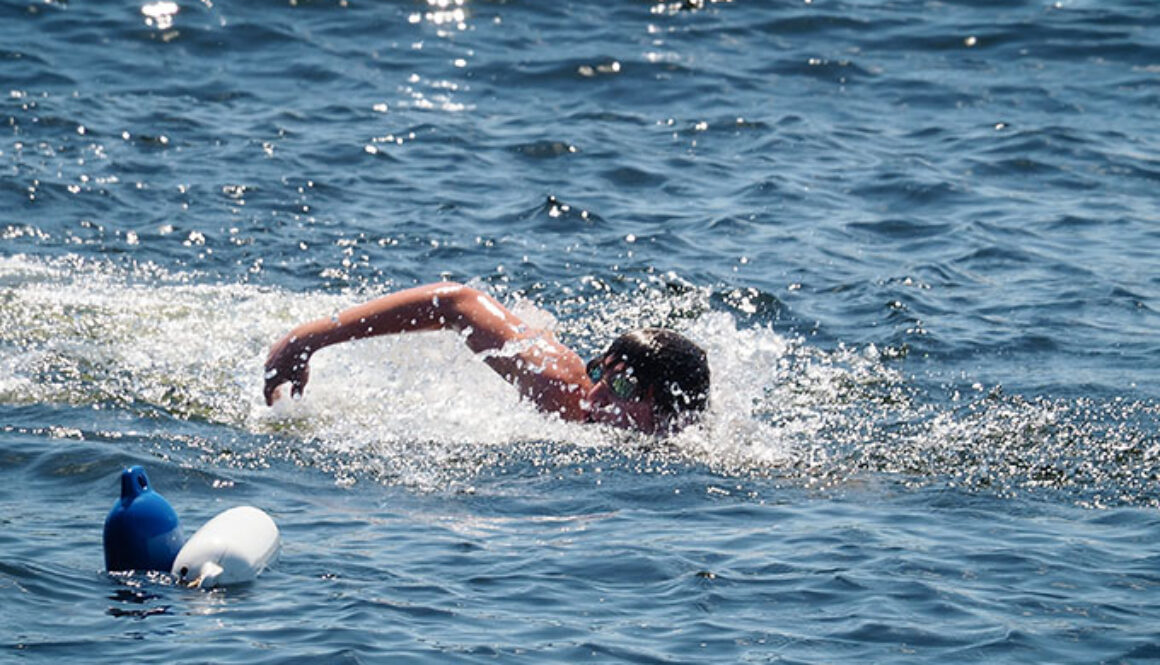
<instances>
[{"instance_id":1,"label":"white foam and splashing spray churned up around the swimmer","mask_svg":"<svg viewBox=\"0 0 1160 665\"><path fill-rule=\"evenodd\" d=\"M208 422L249 441L189 443L217 463L292 460L341 483L443 490L470 486L512 458L549 470L592 457L637 469L650 458L829 489L887 474L999 493L1063 490L1096 506L1160 501L1154 404L926 385L872 346L827 350L766 325L739 325L706 290L664 290L672 277L648 276L607 297L573 290L558 303L566 313L558 321L524 298L506 298L582 353L650 323L702 344L713 371L710 411L664 442L537 413L451 333L320 352L305 396L268 409L260 383L270 342L376 294L205 284L150 266L75 259L0 261L0 402Z\"/></svg>"}]
</instances>

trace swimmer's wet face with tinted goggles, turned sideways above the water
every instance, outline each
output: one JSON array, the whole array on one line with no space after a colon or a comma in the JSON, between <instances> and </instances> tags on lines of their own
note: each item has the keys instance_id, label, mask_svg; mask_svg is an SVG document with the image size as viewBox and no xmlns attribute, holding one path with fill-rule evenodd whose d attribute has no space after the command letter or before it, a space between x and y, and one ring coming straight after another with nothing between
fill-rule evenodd
<instances>
[{"instance_id":1,"label":"swimmer's wet face with tinted goggles, turned sideways above the water","mask_svg":"<svg viewBox=\"0 0 1160 665\"><path fill-rule=\"evenodd\" d=\"M653 412L652 386L636 382L623 360L600 356L588 363L588 420L625 429L639 429L646 434L657 431L657 414Z\"/></svg>"}]
</instances>

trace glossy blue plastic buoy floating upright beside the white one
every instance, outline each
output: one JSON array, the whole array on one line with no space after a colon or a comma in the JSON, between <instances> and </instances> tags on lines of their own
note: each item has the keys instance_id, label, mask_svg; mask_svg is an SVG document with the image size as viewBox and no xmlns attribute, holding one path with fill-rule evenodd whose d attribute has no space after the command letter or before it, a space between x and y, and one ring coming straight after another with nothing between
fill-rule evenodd
<instances>
[{"instance_id":1,"label":"glossy blue plastic buoy floating upright beside the white one","mask_svg":"<svg viewBox=\"0 0 1160 665\"><path fill-rule=\"evenodd\" d=\"M121 472L121 499L104 519L104 568L169 572L184 543L181 520L142 467Z\"/></svg>"}]
</instances>

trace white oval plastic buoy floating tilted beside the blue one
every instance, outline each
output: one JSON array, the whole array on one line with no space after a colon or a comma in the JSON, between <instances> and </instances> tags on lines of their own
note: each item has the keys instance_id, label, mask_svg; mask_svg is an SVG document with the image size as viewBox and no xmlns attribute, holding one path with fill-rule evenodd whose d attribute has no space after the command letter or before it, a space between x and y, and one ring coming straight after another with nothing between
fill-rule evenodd
<instances>
[{"instance_id":1,"label":"white oval plastic buoy floating tilted beside the blue one","mask_svg":"<svg viewBox=\"0 0 1160 665\"><path fill-rule=\"evenodd\" d=\"M186 542L173 574L189 586L226 586L253 581L277 556L278 527L264 512L239 506L218 514Z\"/></svg>"}]
</instances>

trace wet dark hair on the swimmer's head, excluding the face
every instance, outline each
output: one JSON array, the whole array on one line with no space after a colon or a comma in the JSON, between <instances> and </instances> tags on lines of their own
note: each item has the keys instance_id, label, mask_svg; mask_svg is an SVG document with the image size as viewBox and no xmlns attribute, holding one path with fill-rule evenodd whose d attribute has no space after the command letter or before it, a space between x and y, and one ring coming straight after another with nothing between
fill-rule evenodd
<instances>
[{"instance_id":1,"label":"wet dark hair on the swimmer's head, excluding the face","mask_svg":"<svg viewBox=\"0 0 1160 665\"><path fill-rule=\"evenodd\" d=\"M616 339L603 357L632 368L643 393L653 399L658 432L674 432L694 421L709 405L709 361L687 337L665 328L644 328Z\"/></svg>"}]
</instances>

